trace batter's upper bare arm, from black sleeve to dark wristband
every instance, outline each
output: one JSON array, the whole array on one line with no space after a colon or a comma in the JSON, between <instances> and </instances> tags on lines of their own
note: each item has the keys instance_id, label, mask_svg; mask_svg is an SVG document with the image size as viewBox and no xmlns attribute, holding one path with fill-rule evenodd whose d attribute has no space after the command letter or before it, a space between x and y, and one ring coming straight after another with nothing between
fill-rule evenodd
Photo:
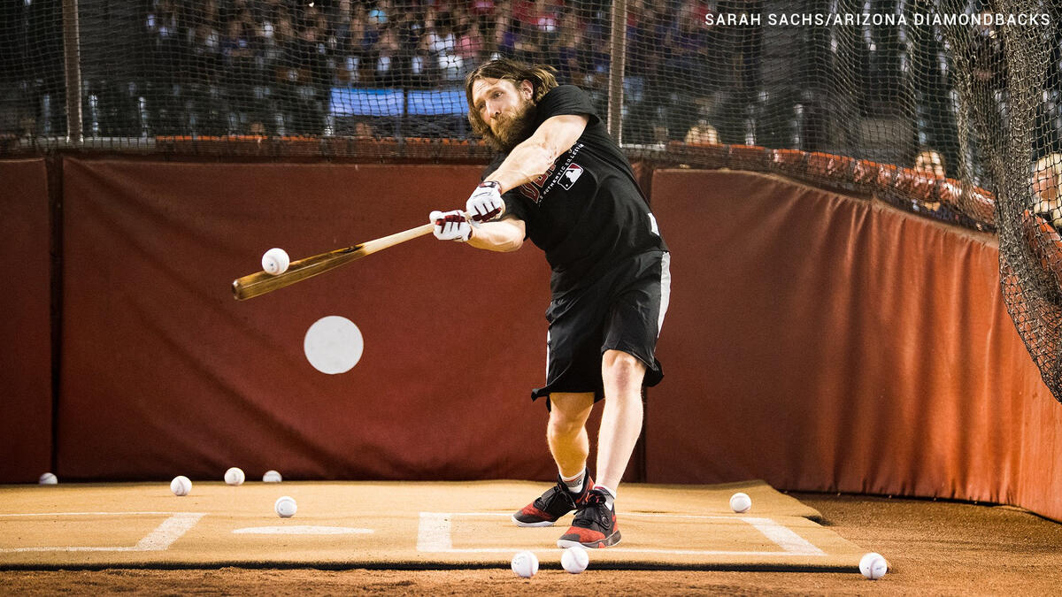
<instances>
[{"instance_id":1,"label":"batter's upper bare arm, from black sleeve to dark wristband","mask_svg":"<svg viewBox=\"0 0 1062 597\"><path fill-rule=\"evenodd\" d=\"M495 181L499 192L534 181L549 170L559 155L571 149L586 130L585 114L553 116L538 125L534 134L513 148L509 156L485 181Z\"/></svg>"}]
</instances>

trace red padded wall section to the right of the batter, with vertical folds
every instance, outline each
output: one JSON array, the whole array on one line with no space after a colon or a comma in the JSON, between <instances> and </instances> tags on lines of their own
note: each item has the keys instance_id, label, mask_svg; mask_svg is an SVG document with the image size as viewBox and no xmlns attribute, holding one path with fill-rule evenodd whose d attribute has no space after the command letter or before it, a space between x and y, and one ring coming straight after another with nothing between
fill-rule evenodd
<instances>
[{"instance_id":1,"label":"red padded wall section to the right of the batter, with vertical folds","mask_svg":"<svg viewBox=\"0 0 1062 597\"><path fill-rule=\"evenodd\" d=\"M1022 504L1062 517L1062 407L998 251L878 202L660 170L672 249L649 479Z\"/></svg>"}]
</instances>

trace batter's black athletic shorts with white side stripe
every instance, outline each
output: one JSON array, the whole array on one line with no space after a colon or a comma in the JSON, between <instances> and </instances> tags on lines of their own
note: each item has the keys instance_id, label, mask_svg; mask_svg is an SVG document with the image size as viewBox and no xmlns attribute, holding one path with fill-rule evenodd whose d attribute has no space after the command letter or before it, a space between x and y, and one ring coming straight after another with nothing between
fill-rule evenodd
<instances>
[{"instance_id":1,"label":"batter's black athletic shorts with white side stripe","mask_svg":"<svg viewBox=\"0 0 1062 597\"><path fill-rule=\"evenodd\" d=\"M553 392L594 392L595 402L601 399L601 356L610 349L646 364L644 386L660 383L656 337L671 292L669 261L666 252L644 253L587 288L553 296L546 310L546 386L531 399Z\"/></svg>"}]
</instances>

